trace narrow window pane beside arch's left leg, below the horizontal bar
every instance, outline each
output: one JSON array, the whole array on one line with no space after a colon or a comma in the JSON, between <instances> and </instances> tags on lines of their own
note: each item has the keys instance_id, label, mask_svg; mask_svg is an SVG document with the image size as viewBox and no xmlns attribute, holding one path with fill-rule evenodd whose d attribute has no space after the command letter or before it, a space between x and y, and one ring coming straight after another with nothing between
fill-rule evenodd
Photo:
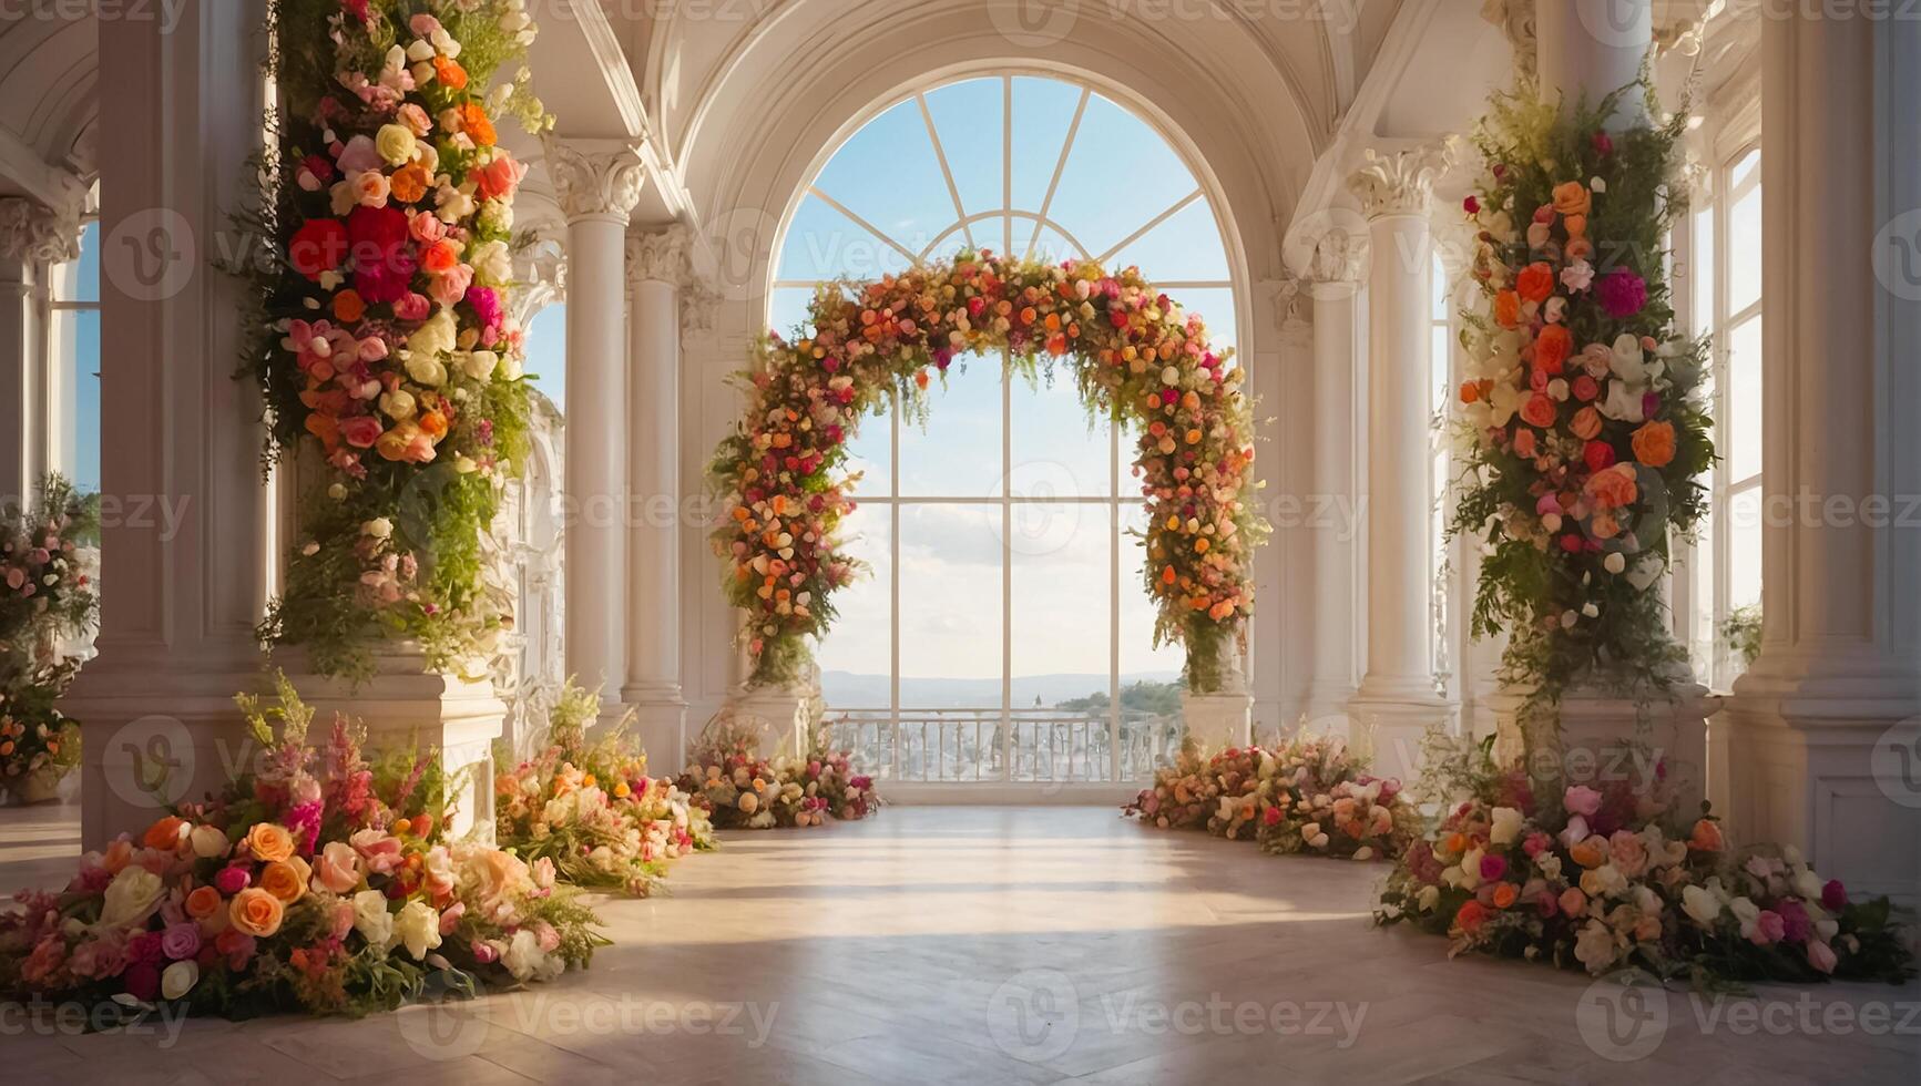
<instances>
[{"instance_id":1,"label":"narrow window pane beside arch's left leg, below the horizontal bar","mask_svg":"<svg viewBox=\"0 0 1921 1086\"><path fill-rule=\"evenodd\" d=\"M820 642L820 694L834 709L874 709L891 703L893 659L893 509L861 506L841 521L841 546L849 557L874 567L834 594L838 617Z\"/></svg>"}]
</instances>

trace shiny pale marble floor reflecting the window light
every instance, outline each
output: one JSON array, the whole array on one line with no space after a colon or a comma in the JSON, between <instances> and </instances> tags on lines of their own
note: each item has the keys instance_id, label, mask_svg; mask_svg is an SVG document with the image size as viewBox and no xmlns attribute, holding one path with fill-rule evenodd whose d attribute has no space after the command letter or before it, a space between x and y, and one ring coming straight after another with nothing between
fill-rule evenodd
<instances>
[{"instance_id":1,"label":"shiny pale marble floor reflecting the window light","mask_svg":"<svg viewBox=\"0 0 1921 1086\"><path fill-rule=\"evenodd\" d=\"M0 890L56 880L75 838L71 809L0 811ZM1662 1000L1448 961L1368 923L1381 875L1112 809L891 807L730 834L670 896L605 901L615 946L557 984L138 1036L0 1013L0 1080L1921 1080L1921 986Z\"/></svg>"}]
</instances>

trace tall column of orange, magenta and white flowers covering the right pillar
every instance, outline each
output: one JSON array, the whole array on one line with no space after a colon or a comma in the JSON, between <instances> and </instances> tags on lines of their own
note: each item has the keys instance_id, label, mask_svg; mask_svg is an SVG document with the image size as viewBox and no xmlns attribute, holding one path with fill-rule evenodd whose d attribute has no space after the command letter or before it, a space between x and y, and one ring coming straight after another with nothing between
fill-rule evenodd
<instances>
[{"instance_id":1,"label":"tall column of orange, magenta and white flowers covering the right pillar","mask_svg":"<svg viewBox=\"0 0 1921 1086\"><path fill-rule=\"evenodd\" d=\"M1681 659L1658 582L1706 511L1706 344L1683 338L1664 238L1685 213L1687 115L1610 131L1596 106L1496 94L1466 200L1485 311L1464 313L1466 452L1450 532L1485 540L1477 636L1506 679L1558 702L1579 680L1666 684Z\"/></svg>"}]
</instances>

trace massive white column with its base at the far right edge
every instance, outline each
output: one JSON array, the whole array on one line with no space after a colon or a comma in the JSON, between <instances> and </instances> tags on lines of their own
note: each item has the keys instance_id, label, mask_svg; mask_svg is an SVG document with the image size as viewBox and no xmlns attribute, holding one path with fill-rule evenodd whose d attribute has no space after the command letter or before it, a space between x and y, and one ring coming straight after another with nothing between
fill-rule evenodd
<instances>
[{"instance_id":1,"label":"massive white column with its base at the far right edge","mask_svg":"<svg viewBox=\"0 0 1921 1086\"><path fill-rule=\"evenodd\" d=\"M1921 25L1767 19L1762 88L1765 634L1725 713L1729 821L1913 901Z\"/></svg>"}]
</instances>

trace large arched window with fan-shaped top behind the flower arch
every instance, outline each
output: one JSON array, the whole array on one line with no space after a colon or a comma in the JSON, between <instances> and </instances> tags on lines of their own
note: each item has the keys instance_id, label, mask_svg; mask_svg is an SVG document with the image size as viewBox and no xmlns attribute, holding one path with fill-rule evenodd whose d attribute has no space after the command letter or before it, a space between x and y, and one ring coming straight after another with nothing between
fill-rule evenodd
<instances>
[{"instance_id":1,"label":"large arched window with fan-shaped top behind the flower arch","mask_svg":"<svg viewBox=\"0 0 1921 1086\"><path fill-rule=\"evenodd\" d=\"M793 208L768 323L813 292L989 248L1137 265L1233 344L1216 211L1153 125L1062 79L916 90L855 131ZM1178 742L1181 652L1153 648L1128 436L1070 381L957 361L930 417L868 419L845 534L874 575L818 646L830 717L903 780L1126 780ZM847 725L839 725L847 728ZM851 734L859 732L859 736Z\"/></svg>"}]
</instances>

